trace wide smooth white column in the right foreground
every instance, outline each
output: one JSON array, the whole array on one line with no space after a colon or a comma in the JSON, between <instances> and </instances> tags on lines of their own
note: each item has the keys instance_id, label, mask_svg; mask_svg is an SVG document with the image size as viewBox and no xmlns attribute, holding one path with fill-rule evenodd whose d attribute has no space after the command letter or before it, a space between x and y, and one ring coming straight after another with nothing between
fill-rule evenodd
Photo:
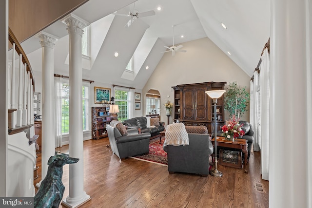
<instances>
[{"instance_id":1,"label":"wide smooth white column in the right foreground","mask_svg":"<svg viewBox=\"0 0 312 208\"><path fill-rule=\"evenodd\" d=\"M311 91L307 81L311 71L307 67L311 56L307 22L311 17L307 4L307 0L271 0L270 208L312 207Z\"/></svg>"}]
</instances>

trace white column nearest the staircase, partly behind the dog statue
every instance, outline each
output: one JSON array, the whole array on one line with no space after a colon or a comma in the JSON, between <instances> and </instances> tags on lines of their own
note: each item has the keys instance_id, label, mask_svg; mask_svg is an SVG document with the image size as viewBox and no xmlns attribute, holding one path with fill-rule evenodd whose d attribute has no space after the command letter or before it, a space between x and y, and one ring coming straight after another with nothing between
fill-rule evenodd
<instances>
[{"instance_id":1,"label":"white column nearest the staircase, partly behind the dog statue","mask_svg":"<svg viewBox=\"0 0 312 208\"><path fill-rule=\"evenodd\" d=\"M42 122L41 122L41 181L48 170L48 160L55 153L54 122L54 57L53 51L57 37L39 32L36 35L42 47ZM30 94L31 95L31 94ZM33 96L32 96L33 97ZM32 100L32 99L31 99ZM31 120L30 120L31 122Z\"/></svg>"}]
</instances>

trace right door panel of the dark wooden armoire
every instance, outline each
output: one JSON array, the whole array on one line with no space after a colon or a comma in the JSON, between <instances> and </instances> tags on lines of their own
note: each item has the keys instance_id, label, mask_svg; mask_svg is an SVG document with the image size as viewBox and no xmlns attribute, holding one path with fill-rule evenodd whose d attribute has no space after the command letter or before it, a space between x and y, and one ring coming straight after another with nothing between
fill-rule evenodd
<instances>
[{"instance_id":1,"label":"right door panel of the dark wooden armoire","mask_svg":"<svg viewBox=\"0 0 312 208\"><path fill-rule=\"evenodd\" d=\"M195 120L207 121L207 88L195 88Z\"/></svg>"}]
</instances>

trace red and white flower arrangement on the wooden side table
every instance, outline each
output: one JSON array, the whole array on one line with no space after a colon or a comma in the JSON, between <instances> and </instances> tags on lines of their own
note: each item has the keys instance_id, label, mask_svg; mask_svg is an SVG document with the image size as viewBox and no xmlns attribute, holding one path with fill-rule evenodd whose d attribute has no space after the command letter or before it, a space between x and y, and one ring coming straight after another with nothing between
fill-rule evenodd
<instances>
[{"instance_id":1,"label":"red and white flower arrangement on the wooden side table","mask_svg":"<svg viewBox=\"0 0 312 208\"><path fill-rule=\"evenodd\" d=\"M245 132L242 130L242 124L240 125L238 123L239 119L235 118L235 115L232 116L230 119L228 125L224 125L221 127L222 129L222 136L224 136L226 139L238 138L240 136L243 136Z\"/></svg>"}]
</instances>

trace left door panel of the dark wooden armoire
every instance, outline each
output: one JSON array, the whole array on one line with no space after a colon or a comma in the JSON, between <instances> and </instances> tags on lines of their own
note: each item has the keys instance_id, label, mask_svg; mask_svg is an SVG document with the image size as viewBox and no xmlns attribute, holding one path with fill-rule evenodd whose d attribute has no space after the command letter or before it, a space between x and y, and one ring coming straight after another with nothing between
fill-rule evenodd
<instances>
[{"instance_id":1,"label":"left door panel of the dark wooden armoire","mask_svg":"<svg viewBox=\"0 0 312 208\"><path fill-rule=\"evenodd\" d=\"M183 119L194 120L194 94L193 89L183 90Z\"/></svg>"}]
</instances>

